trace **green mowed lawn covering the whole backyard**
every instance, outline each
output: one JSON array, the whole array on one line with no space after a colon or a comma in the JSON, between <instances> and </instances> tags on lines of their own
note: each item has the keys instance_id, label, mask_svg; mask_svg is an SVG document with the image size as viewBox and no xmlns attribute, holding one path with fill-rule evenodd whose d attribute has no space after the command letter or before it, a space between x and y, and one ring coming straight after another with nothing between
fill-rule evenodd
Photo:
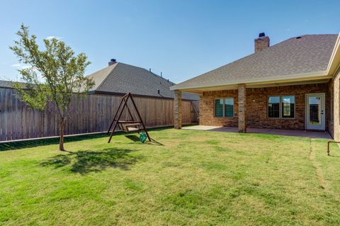
<instances>
[{"instance_id":1,"label":"green mowed lawn covering the whole backyard","mask_svg":"<svg viewBox=\"0 0 340 226\"><path fill-rule=\"evenodd\" d=\"M0 152L0 225L340 225L327 140L153 130Z\"/></svg>"}]
</instances>

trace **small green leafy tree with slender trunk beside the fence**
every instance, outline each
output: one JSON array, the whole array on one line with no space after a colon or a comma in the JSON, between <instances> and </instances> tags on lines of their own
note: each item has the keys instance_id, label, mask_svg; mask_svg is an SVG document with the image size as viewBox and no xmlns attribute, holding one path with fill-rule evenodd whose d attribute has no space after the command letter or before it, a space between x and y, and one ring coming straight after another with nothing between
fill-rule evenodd
<instances>
[{"instance_id":1,"label":"small green leafy tree with slender trunk beside the fence","mask_svg":"<svg viewBox=\"0 0 340 226\"><path fill-rule=\"evenodd\" d=\"M45 50L40 50L36 36L30 35L23 24L17 35L19 39L9 48L19 62L28 65L18 70L26 83L16 83L18 98L40 111L46 108L48 101L55 103L60 116L59 149L64 151L64 125L70 114L69 105L74 96L86 94L94 86L94 81L84 75L90 62L84 53L74 55L72 48L57 38L44 39Z\"/></svg>"}]
</instances>

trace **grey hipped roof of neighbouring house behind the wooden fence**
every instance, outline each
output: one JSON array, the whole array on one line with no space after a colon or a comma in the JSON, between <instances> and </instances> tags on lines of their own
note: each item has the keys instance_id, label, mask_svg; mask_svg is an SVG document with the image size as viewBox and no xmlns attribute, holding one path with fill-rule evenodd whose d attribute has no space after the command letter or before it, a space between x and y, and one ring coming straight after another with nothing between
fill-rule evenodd
<instances>
[{"instance_id":1,"label":"grey hipped roof of neighbouring house behind the wooden fence","mask_svg":"<svg viewBox=\"0 0 340 226\"><path fill-rule=\"evenodd\" d=\"M159 77L149 70L129 64L117 62L111 66L90 74L96 85L93 91L100 93L132 94L140 96L156 96L159 98L174 98L174 91L170 90L175 84ZM159 89L159 94L157 89ZM183 93L186 100L198 100L198 95Z\"/></svg>"}]
</instances>

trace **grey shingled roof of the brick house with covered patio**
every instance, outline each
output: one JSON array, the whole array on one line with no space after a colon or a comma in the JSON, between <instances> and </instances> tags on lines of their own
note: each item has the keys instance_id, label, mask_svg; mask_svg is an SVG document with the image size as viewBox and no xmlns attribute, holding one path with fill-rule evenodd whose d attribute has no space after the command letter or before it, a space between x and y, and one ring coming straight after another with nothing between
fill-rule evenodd
<instances>
[{"instance_id":1,"label":"grey shingled roof of the brick house with covered patio","mask_svg":"<svg viewBox=\"0 0 340 226\"><path fill-rule=\"evenodd\" d=\"M171 89L214 86L237 81L273 79L327 69L338 35L302 35L183 81Z\"/></svg>"}]
</instances>

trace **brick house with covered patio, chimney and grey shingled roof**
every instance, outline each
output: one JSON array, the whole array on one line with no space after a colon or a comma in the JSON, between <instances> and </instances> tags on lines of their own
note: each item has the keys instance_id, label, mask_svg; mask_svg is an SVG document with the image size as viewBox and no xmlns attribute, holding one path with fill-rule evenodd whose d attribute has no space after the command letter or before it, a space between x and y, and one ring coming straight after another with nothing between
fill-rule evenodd
<instances>
[{"instance_id":1,"label":"brick house with covered patio, chimney and grey shingled roof","mask_svg":"<svg viewBox=\"0 0 340 226\"><path fill-rule=\"evenodd\" d=\"M255 52L172 86L175 128L181 92L200 95L200 125L327 130L340 140L340 35L302 35L270 46L264 33Z\"/></svg>"}]
</instances>

